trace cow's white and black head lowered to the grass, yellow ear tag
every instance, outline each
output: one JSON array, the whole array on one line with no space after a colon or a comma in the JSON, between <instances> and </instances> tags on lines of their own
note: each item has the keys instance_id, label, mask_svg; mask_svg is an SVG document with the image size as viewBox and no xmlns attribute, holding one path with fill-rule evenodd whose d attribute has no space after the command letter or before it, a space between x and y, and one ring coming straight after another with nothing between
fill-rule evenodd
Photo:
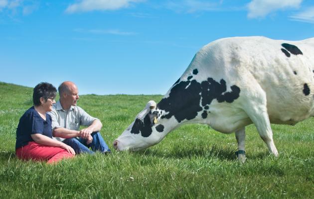
<instances>
[{"instance_id":1,"label":"cow's white and black head lowered to the grass, yellow ear tag","mask_svg":"<svg viewBox=\"0 0 314 199\"><path fill-rule=\"evenodd\" d=\"M156 102L149 101L134 122L114 141L114 148L138 151L157 144L164 137L161 133L164 126L158 122L161 113Z\"/></svg>"}]
</instances>

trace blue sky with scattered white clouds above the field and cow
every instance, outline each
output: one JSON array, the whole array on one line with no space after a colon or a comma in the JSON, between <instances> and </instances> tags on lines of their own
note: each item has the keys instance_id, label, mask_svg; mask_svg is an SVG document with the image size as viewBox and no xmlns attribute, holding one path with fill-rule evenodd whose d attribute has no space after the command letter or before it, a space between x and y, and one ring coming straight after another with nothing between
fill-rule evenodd
<instances>
[{"instance_id":1,"label":"blue sky with scattered white clouds above the field and cow","mask_svg":"<svg viewBox=\"0 0 314 199\"><path fill-rule=\"evenodd\" d=\"M313 0L0 0L0 82L165 94L223 37L314 37Z\"/></svg>"}]
</instances>

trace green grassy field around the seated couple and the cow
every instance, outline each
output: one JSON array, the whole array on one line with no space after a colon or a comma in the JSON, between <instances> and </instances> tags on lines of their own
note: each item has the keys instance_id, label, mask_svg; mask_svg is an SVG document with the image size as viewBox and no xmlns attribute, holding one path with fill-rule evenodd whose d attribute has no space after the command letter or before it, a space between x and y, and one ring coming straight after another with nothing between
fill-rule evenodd
<instances>
[{"instance_id":1,"label":"green grassy field around the seated couple and the cow","mask_svg":"<svg viewBox=\"0 0 314 199\"><path fill-rule=\"evenodd\" d=\"M149 100L162 96L80 96L78 105L103 123L112 142ZM15 129L32 105L32 88L0 83L0 198L253 198L314 196L314 118L272 125L279 158L269 155L255 126L246 128L247 161L234 134L183 125L142 152L80 155L56 165L16 159Z\"/></svg>"}]
</instances>

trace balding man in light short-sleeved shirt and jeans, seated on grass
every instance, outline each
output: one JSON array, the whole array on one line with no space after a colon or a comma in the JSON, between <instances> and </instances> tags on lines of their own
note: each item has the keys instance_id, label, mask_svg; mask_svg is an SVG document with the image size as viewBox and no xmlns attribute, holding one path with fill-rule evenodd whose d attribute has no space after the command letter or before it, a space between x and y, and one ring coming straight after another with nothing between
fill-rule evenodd
<instances>
[{"instance_id":1,"label":"balding man in light short-sleeved shirt and jeans, seated on grass","mask_svg":"<svg viewBox=\"0 0 314 199\"><path fill-rule=\"evenodd\" d=\"M76 154L94 154L95 151L110 153L99 132L103 126L101 121L76 105L79 99L76 85L69 81L63 82L58 92L60 100L53 104L52 111L49 112L52 118L53 136L71 146ZM80 125L87 128L80 130Z\"/></svg>"}]
</instances>

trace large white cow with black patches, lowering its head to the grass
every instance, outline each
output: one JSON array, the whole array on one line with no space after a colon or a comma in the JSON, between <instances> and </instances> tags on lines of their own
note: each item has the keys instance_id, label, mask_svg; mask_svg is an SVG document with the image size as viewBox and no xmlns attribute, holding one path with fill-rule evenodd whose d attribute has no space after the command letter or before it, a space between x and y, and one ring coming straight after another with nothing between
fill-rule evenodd
<instances>
[{"instance_id":1,"label":"large white cow with black patches, lowering its head to the grass","mask_svg":"<svg viewBox=\"0 0 314 199\"><path fill-rule=\"evenodd\" d=\"M245 160L245 126L254 123L269 151L278 156L270 123L291 124L314 116L314 38L219 39L194 56L162 100L149 101L114 141L137 151L157 144L184 123L235 132Z\"/></svg>"}]
</instances>

